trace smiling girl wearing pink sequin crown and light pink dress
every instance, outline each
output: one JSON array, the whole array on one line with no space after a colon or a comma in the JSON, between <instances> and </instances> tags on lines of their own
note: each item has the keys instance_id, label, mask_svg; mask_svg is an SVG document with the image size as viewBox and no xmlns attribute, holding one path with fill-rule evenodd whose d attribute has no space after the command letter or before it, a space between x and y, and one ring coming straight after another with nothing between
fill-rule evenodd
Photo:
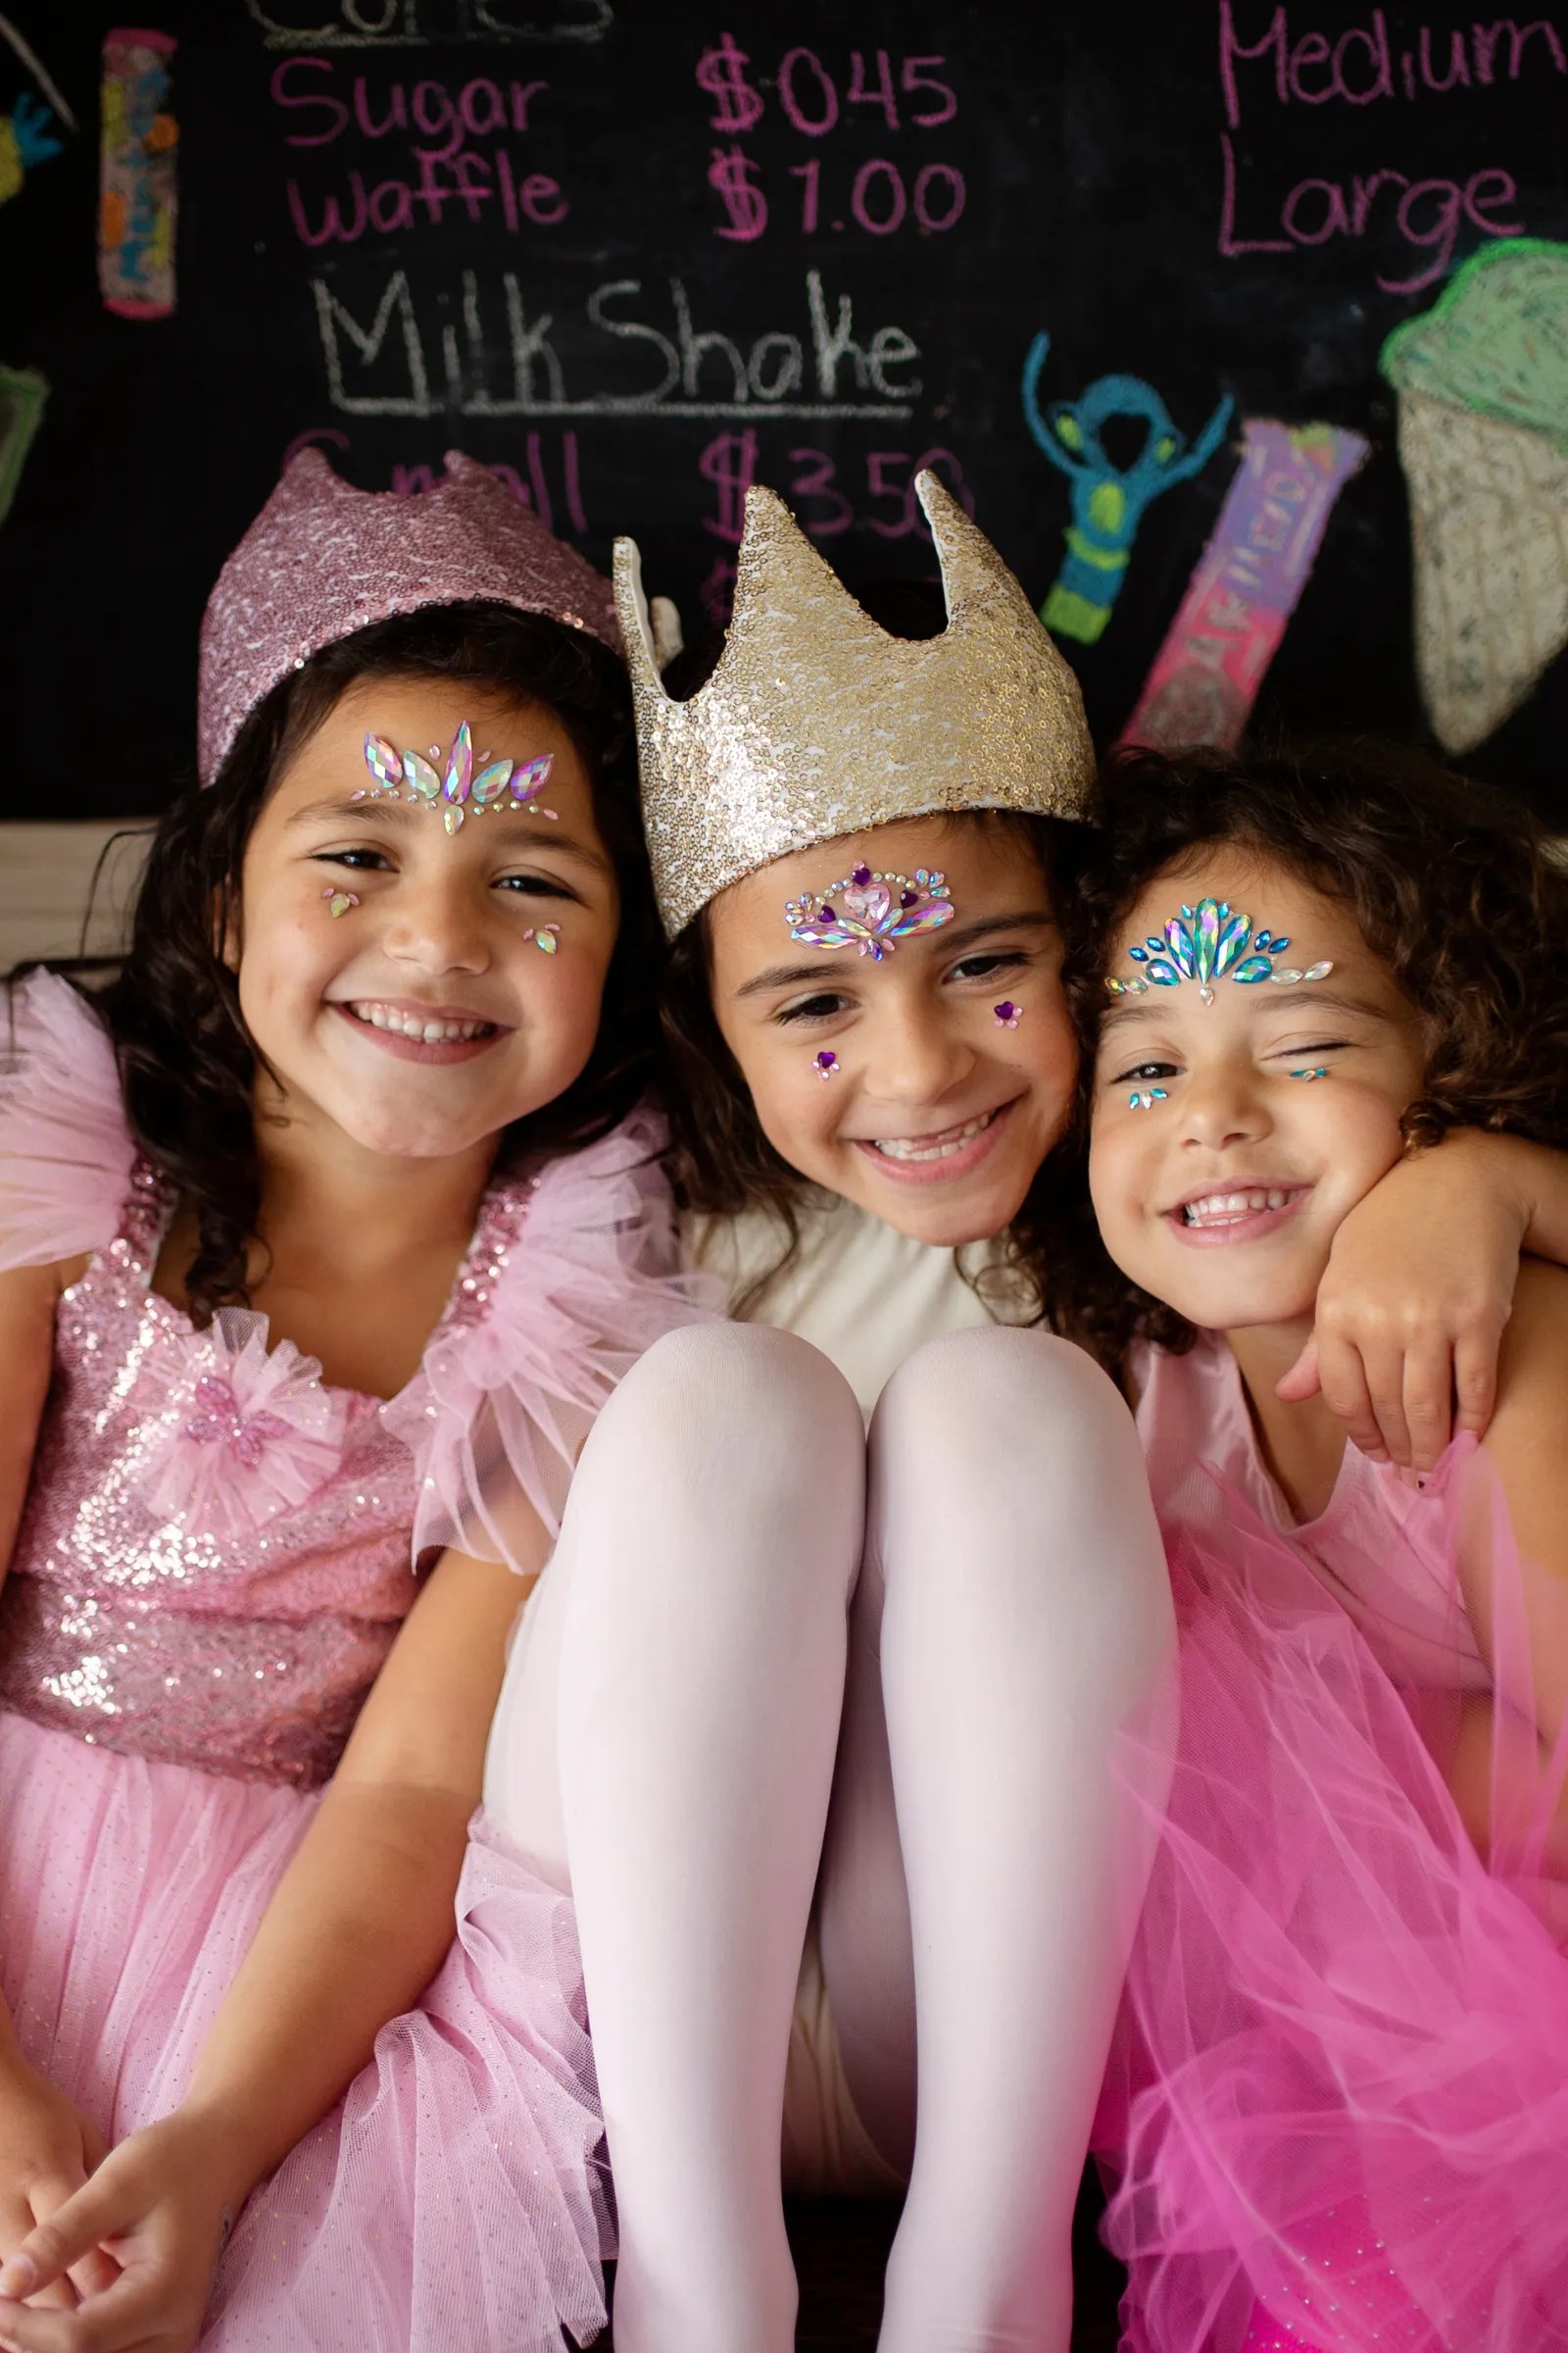
<instances>
[{"instance_id":1,"label":"smiling girl wearing pink sequin crown and light pink dress","mask_svg":"<svg viewBox=\"0 0 1568 2353\"><path fill-rule=\"evenodd\" d=\"M609 591L477 464L308 452L200 755L120 976L9 993L0 2339L555 2353L602 2125L484 1737L581 1440L696 1313Z\"/></svg>"}]
</instances>

